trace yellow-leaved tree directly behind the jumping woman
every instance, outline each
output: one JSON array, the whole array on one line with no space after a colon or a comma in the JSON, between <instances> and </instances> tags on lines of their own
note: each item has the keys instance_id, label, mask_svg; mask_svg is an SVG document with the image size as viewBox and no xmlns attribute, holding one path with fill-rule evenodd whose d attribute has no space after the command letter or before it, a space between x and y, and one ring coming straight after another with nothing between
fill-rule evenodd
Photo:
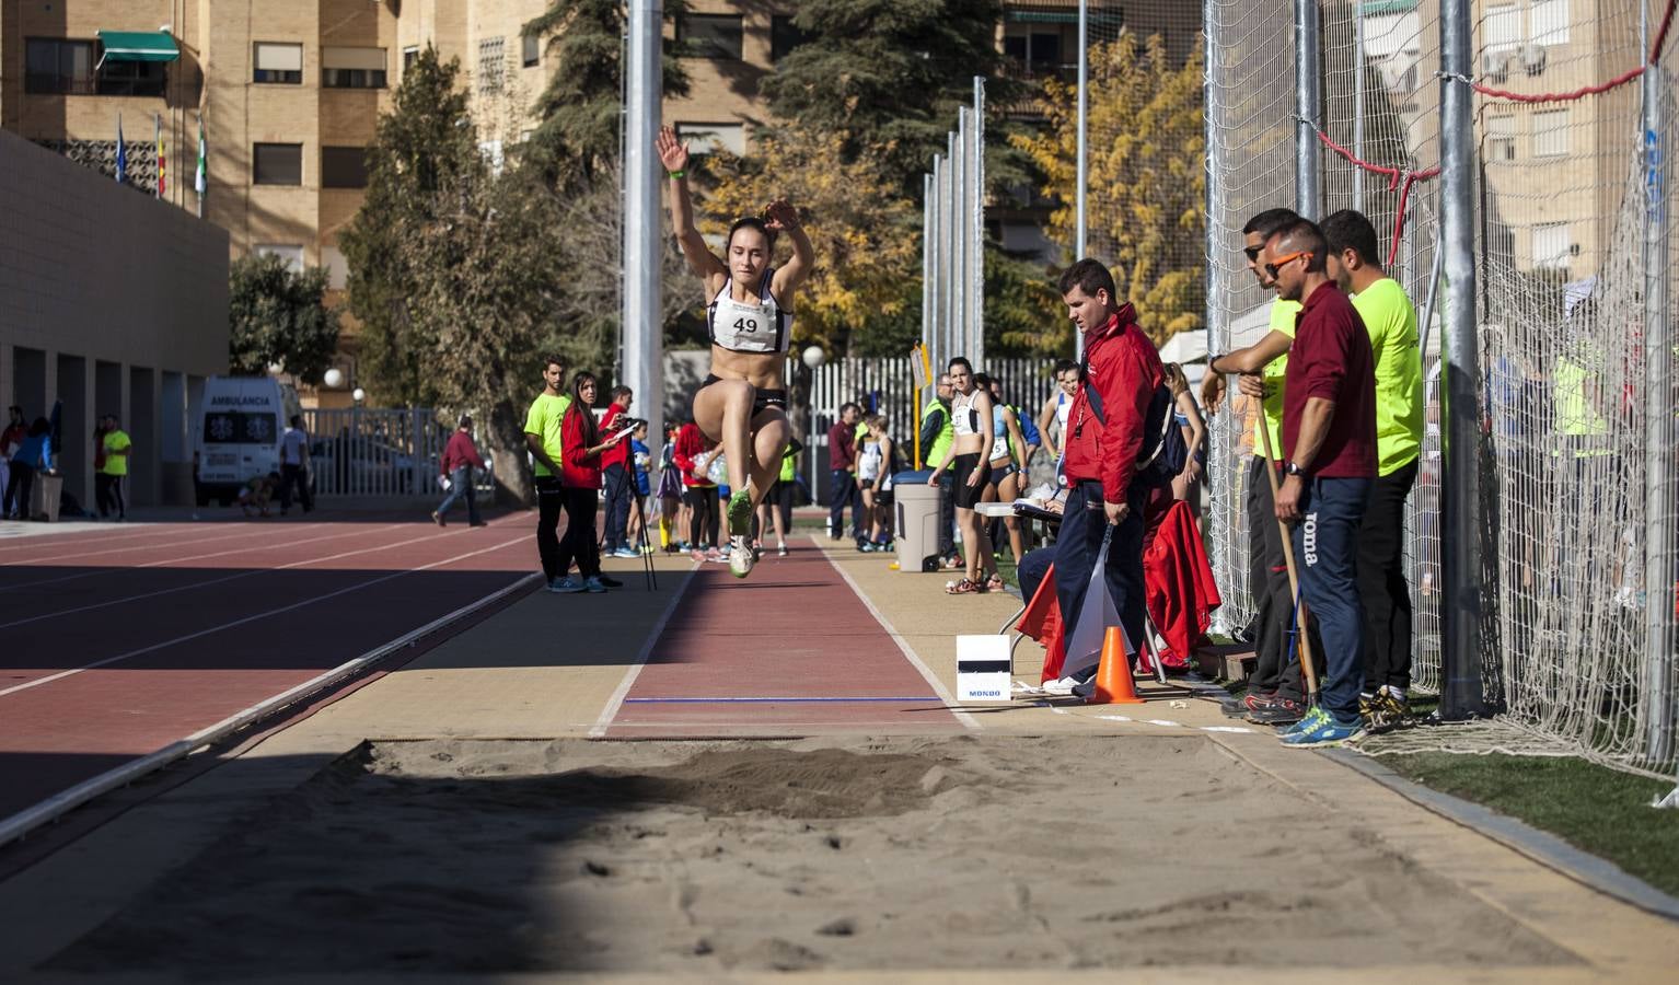
<instances>
[{"instance_id":1,"label":"yellow-leaved tree directly behind the jumping woman","mask_svg":"<svg viewBox=\"0 0 1679 985\"><path fill-rule=\"evenodd\" d=\"M792 319L799 346L860 354L868 336L918 336L920 208L885 180L873 154L846 159L840 134L787 128L754 141L751 156L717 153L700 232L720 238L740 216L786 198L799 210L816 267ZM787 255L777 243L777 263ZM905 344L907 349L907 344Z\"/></svg>"}]
</instances>

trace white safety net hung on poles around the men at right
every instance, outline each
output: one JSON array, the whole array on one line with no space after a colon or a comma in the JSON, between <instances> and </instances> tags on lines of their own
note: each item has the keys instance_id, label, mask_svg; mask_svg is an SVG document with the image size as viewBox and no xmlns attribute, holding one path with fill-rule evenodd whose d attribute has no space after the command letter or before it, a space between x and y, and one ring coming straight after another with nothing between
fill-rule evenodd
<instances>
[{"instance_id":1,"label":"white safety net hung on poles around the men at right","mask_svg":"<svg viewBox=\"0 0 1679 985\"><path fill-rule=\"evenodd\" d=\"M1439 685L1439 393L1432 287L1442 183L1439 5L1325 0L1313 119L1326 215L1358 208L1424 322L1427 438L1410 510L1415 683ZM1373 750L1573 750L1672 775L1674 121L1669 39L1645 133L1637 70L1674 3L1474 3L1483 503L1483 670L1499 723L1429 730ZM1295 195L1291 0L1211 0L1209 347L1263 334L1269 300L1239 228ZM1669 34L1672 34L1669 30ZM1447 82L1461 84L1461 82ZM1652 166L1654 164L1654 166ZM1387 257L1385 257L1387 258ZM1439 287L1446 290L1444 285ZM1226 626L1253 611L1242 472L1249 426L1221 414L1207 535Z\"/></svg>"}]
</instances>

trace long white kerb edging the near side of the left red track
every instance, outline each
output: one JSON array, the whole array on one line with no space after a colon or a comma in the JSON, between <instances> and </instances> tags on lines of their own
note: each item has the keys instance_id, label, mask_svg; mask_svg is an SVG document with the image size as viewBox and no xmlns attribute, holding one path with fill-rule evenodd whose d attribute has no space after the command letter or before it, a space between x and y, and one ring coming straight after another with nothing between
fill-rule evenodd
<instances>
[{"instance_id":1,"label":"long white kerb edging the near side of the left red track","mask_svg":"<svg viewBox=\"0 0 1679 985\"><path fill-rule=\"evenodd\" d=\"M326 671L324 675L317 675L294 688L287 688L285 691L280 691L272 698L259 701L250 708L245 708L243 711L237 711L223 718L222 722L217 722L215 725L200 728L198 732L188 735L186 738L171 742L170 745L149 755L144 755L133 762L126 762L116 769L106 770L97 777L82 780L81 784L76 784L69 790L60 790L59 794L47 797L45 800L35 804L34 807L25 807L24 810L18 810L12 817L0 821L0 844L8 844L18 837L24 837L30 831L44 824L49 824L52 821L57 821L59 817L69 814L71 810L81 807L82 804L92 800L94 797L116 790L118 787L133 784L139 777L144 777L153 770L158 770L195 750L200 750L210 745L212 742L232 735L254 722L260 722L262 718L267 718L274 711L279 711L299 701L306 701L312 698L317 691L322 691L327 686L334 685L336 681L348 678L354 673L359 673L368 666L373 666L374 663L396 653L403 646L408 646L411 641L420 639L430 633L435 633L448 626L450 623L455 623L457 619L470 616L485 606L505 599L507 596L517 592L519 589L531 584L537 577L541 576L527 574L509 586L495 589L494 592L480 597L475 602L468 602L447 616L440 616L426 623L425 626L420 626L418 629L410 629L408 633L398 636L396 639L391 639L390 643L381 643L379 646L369 649L368 653L363 653L356 659L351 659L349 663L341 663L339 666Z\"/></svg>"}]
</instances>

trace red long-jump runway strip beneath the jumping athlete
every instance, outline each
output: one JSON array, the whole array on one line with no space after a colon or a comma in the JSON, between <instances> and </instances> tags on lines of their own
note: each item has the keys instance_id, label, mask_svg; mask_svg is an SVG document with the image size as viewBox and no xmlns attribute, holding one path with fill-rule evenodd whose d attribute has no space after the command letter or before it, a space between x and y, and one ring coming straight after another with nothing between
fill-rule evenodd
<instances>
[{"instance_id":1,"label":"red long-jump runway strip beneath the jumping athlete","mask_svg":"<svg viewBox=\"0 0 1679 985\"><path fill-rule=\"evenodd\" d=\"M819 549L693 579L606 735L964 728Z\"/></svg>"}]
</instances>

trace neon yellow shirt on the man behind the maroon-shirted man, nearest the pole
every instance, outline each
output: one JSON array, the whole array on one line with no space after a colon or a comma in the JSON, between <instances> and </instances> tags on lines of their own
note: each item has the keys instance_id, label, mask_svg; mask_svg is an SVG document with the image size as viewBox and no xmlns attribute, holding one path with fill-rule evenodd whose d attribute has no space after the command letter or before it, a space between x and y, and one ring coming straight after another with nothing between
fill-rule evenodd
<instances>
[{"instance_id":1,"label":"neon yellow shirt on the man behind the maroon-shirted man, nearest the pole","mask_svg":"<svg viewBox=\"0 0 1679 985\"><path fill-rule=\"evenodd\" d=\"M1383 277L1353 295L1375 356L1375 470L1390 475L1422 453L1422 346L1417 309Z\"/></svg>"}]
</instances>

